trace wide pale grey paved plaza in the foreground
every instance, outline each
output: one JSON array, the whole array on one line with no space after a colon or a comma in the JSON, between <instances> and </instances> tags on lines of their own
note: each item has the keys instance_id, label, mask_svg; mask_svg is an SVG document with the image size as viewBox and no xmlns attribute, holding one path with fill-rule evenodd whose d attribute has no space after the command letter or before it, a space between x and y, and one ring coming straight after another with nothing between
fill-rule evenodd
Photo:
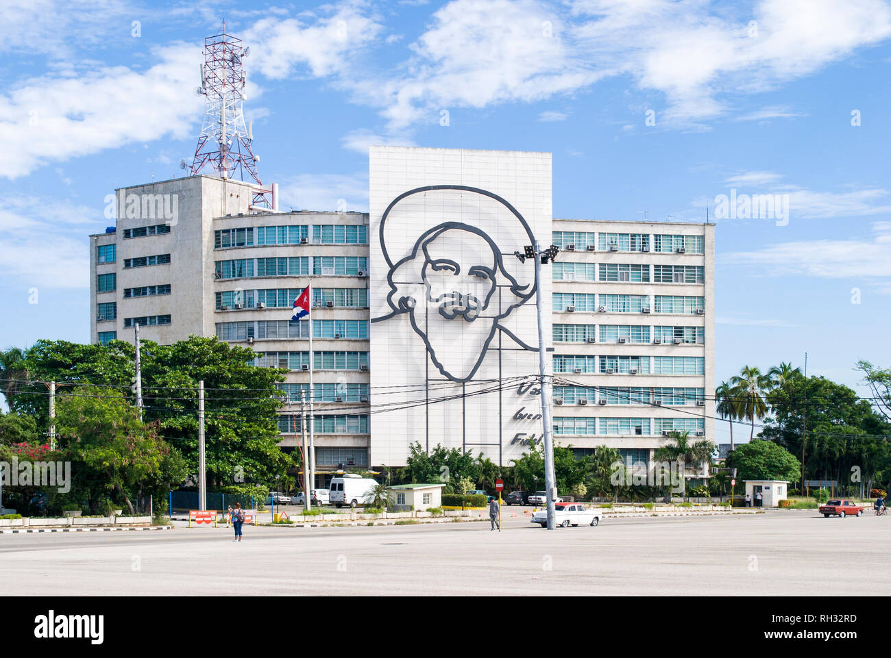
<instances>
[{"instance_id":1,"label":"wide pale grey paved plaza in the foreground","mask_svg":"<svg viewBox=\"0 0 891 658\"><path fill-rule=\"evenodd\" d=\"M511 516L514 512L517 516ZM891 519L758 515L0 536L4 593L28 595L887 595Z\"/></svg>"}]
</instances>

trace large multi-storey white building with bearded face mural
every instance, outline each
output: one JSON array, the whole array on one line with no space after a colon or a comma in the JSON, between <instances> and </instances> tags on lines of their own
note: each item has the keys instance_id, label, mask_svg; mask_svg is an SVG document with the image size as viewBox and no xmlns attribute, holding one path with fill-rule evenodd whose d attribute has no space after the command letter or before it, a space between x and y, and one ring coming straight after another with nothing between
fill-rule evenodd
<instances>
[{"instance_id":1,"label":"large multi-storey white building with bearded face mural","mask_svg":"<svg viewBox=\"0 0 891 658\"><path fill-rule=\"evenodd\" d=\"M320 482L401 466L410 443L508 464L541 441L544 304L558 444L649 461L672 429L714 439L714 225L552 218L551 154L373 147L370 213L251 207L200 175L118 191L91 236L93 342L191 334L288 370L282 445L315 399ZM556 244L541 290L523 254ZM312 327L290 322L312 282ZM313 353L309 353L309 332Z\"/></svg>"}]
</instances>

